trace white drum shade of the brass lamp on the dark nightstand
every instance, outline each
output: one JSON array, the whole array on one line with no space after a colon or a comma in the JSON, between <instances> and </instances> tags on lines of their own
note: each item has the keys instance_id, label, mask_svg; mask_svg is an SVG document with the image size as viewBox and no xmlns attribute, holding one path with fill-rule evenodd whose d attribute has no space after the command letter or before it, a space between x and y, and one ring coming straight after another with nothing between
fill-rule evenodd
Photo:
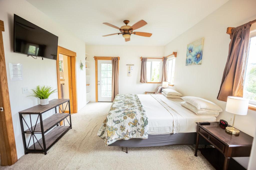
<instances>
[{"instance_id":1,"label":"white drum shade of the brass lamp on the dark nightstand","mask_svg":"<svg viewBox=\"0 0 256 170\"><path fill-rule=\"evenodd\" d=\"M242 97L228 96L226 111L233 114L247 115L249 100Z\"/></svg>"}]
</instances>

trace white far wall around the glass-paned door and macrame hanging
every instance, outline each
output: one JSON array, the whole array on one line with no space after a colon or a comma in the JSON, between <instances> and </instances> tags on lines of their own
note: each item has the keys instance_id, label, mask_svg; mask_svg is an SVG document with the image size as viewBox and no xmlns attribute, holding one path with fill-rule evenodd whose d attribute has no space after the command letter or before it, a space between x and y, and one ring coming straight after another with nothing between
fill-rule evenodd
<instances>
[{"instance_id":1,"label":"white far wall around the glass-paned door and macrame hanging","mask_svg":"<svg viewBox=\"0 0 256 170\"><path fill-rule=\"evenodd\" d=\"M132 40L131 40L132 41ZM123 45L86 45L87 60L90 68L91 101L95 101L95 61L94 56L120 57L119 61L119 94L143 94L155 91L162 84L140 83L140 57L163 57L163 46L123 46ZM128 66L134 64L132 76L128 77Z\"/></svg>"}]
</instances>

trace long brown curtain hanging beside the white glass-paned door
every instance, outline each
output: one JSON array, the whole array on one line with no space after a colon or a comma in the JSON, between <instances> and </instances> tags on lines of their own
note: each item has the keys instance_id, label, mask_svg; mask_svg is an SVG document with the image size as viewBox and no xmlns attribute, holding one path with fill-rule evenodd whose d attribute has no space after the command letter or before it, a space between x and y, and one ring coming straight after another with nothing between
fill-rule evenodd
<instances>
[{"instance_id":1,"label":"long brown curtain hanging beside the white glass-paned door","mask_svg":"<svg viewBox=\"0 0 256 170\"><path fill-rule=\"evenodd\" d=\"M119 93L119 60L118 57L112 57L112 99L114 101L115 96Z\"/></svg>"}]
</instances>

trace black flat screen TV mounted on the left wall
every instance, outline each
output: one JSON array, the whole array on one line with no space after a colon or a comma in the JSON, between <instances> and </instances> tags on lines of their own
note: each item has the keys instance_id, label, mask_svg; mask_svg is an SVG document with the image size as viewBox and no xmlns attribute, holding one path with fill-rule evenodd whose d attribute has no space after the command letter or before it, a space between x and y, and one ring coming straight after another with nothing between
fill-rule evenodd
<instances>
[{"instance_id":1,"label":"black flat screen TV mounted on the left wall","mask_svg":"<svg viewBox=\"0 0 256 170\"><path fill-rule=\"evenodd\" d=\"M14 14L14 52L57 60L58 37Z\"/></svg>"}]
</instances>

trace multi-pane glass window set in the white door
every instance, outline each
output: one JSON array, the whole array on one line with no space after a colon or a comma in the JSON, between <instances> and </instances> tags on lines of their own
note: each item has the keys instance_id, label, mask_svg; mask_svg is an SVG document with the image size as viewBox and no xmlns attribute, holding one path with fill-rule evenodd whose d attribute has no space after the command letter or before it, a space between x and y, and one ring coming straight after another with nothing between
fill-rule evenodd
<instances>
[{"instance_id":1,"label":"multi-pane glass window set in the white door","mask_svg":"<svg viewBox=\"0 0 256 170\"><path fill-rule=\"evenodd\" d=\"M101 63L101 97L112 97L111 63Z\"/></svg>"}]
</instances>

